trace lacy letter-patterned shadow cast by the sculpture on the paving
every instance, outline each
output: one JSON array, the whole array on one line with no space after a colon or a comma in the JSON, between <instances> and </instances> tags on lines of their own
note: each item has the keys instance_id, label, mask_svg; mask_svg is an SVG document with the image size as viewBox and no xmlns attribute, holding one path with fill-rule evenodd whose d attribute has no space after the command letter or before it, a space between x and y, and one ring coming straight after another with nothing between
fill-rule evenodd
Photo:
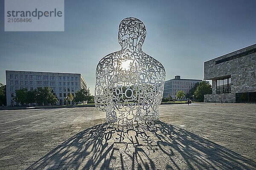
<instances>
[{"instance_id":1,"label":"lacy letter-patterned shadow cast by the sculpture on the paving","mask_svg":"<svg viewBox=\"0 0 256 170\"><path fill-rule=\"evenodd\" d=\"M100 124L68 139L28 170L255 169L256 162L249 159L164 122Z\"/></svg>"}]
</instances>

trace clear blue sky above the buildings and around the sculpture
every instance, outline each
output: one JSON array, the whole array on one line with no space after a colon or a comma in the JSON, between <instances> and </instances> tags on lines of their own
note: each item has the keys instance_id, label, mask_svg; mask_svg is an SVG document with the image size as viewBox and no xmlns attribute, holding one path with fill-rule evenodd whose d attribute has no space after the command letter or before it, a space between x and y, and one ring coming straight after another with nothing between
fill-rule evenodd
<instances>
[{"instance_id":1,"label":"clear blue sky above the buildings and around the sculpture","mask_svg":"<svg viewBox=\"0 0 256 170\"><path fill-rule=\"evenodd\" d=\"M94 93L95 69L120 49L125 17L143 21L143 51L166 79L203 79L204 61L256 43L256 0L65 0L64 32L5 32L0 0L0 82L5 70L81 73Z\"/></svg>"}]
</instances>

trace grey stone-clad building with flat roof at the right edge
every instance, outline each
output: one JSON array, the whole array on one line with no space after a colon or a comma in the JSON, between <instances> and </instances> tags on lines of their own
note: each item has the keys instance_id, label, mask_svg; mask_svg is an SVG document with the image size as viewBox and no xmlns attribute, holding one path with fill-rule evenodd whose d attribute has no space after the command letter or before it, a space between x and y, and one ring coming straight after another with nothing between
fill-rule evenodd
<instances>
[{"instance_id":1,"label":"grey stone-clad building with flat roof at the right edge","mask_svg":"<svg viewBox=\"0 0 256 170\"><path fill-rule=\"evenodd\" d=\"M204 62L212 94L204 102L256 103L256 44Z\"/></svg>"}]
</instances>

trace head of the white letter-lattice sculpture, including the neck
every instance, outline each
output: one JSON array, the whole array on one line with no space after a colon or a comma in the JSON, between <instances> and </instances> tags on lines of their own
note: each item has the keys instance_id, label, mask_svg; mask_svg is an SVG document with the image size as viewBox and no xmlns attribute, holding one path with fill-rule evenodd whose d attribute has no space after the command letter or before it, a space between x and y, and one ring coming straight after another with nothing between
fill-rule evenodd
<instances>
[{"instance_id":1,"label":"head of the white letter-lattice sculpture, including the neck","mask_svg":"<svg viewBox=\"0 0 256 170\"><path fill-rule=\"evenodd\" d=\"M141 51L145 37L146 27L141 20L128 17L119 24L118 41L122 49Z\"/></svg>"}]
</instances>

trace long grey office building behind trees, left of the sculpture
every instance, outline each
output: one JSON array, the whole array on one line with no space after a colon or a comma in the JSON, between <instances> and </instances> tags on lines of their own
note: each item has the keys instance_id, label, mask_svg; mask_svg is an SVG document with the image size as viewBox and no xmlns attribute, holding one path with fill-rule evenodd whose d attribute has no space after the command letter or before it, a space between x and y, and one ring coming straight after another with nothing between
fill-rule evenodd
<instances>
[{"instance_id":1,"label":"long grey office building behind trees, left of the sculpture","mask_svg":"<svg viewBox=\"0 0 256 170\"><path fill-rule=\"evenodd\" d=\"M13 100L15 90L26 88L31 91L45 86L51 88L58 97L57 105L64 105L64 99L68 94L71 93L74 96L76 91L87 88L84 78L79 73L6 70L7 106L16 105Z\"/></svg>"}]
</instances>

